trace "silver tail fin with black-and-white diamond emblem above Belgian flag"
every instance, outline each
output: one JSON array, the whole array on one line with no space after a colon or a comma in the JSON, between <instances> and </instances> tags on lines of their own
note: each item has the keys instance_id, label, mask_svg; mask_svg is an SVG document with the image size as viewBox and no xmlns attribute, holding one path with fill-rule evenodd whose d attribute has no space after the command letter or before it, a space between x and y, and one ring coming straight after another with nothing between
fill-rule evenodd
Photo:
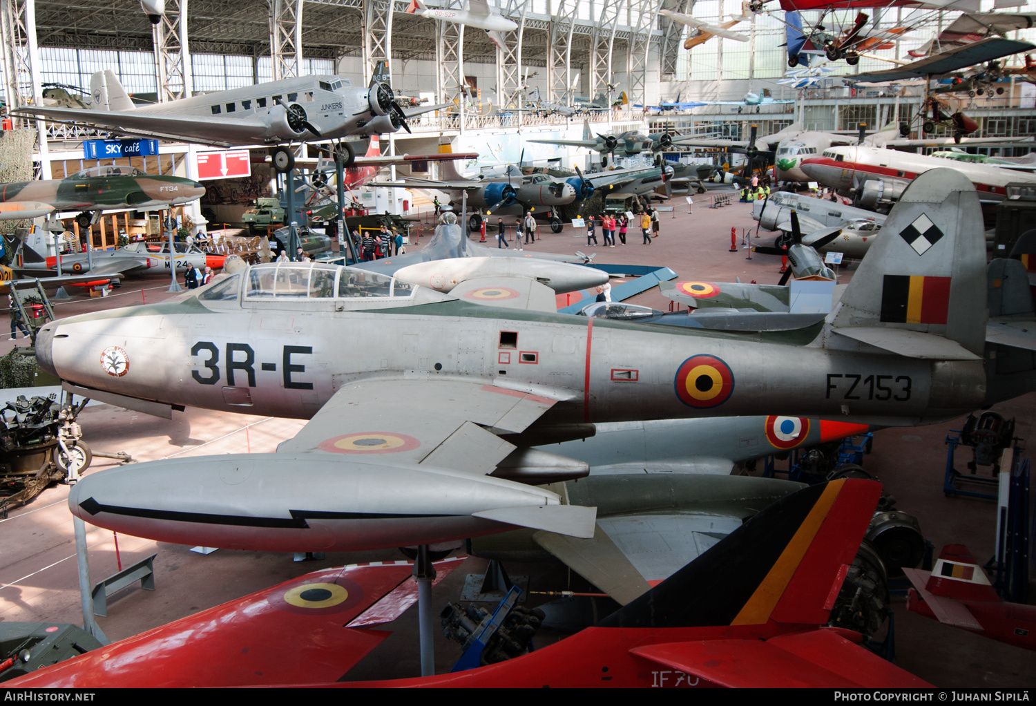
<instances>
[{"instance_id":1,"label":"silver tail fin with black-and-white diamond emblem above Belgian flag","mask_svg":"<svg viewBox=\"0 0 1036 706\"><path fill-rule=\"evenodd\" d=\"M987 315L978 194L960 172L939 168L903 192L828 321L835 333L900 355L974 360Z\"/></svg>"}]
</instances>

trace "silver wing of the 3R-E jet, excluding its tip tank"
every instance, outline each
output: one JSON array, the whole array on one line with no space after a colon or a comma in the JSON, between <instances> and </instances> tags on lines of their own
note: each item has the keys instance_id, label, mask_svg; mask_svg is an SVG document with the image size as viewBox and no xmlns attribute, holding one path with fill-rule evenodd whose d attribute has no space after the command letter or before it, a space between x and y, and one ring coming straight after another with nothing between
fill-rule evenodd
<instances>
[{"instance_id":1,"label":"silver wing of the 3R-E jet, excluding its tip tank","mask_svg":"<svg viewBox=\"0 0 1036 706\"><path fill-rule=\"evenodd\" d=\"M355 454L372 463L490 474L515 449L497 433L520 433L558 399L575 394L537 392L434 377L350 382L278 453Z\"/></svg>"}]
</instances>

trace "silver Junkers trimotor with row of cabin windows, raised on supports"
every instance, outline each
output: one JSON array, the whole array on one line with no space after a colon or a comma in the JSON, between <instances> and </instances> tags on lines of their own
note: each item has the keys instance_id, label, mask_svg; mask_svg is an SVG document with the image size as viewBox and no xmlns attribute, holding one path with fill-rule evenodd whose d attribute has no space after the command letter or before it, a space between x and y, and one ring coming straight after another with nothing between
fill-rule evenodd
<instances>
[{"instance_id":1,"label":"silver Junkers trimotor with row of cabin windows, raised on supports","mask_svg":"<svg viewBox=\"0 0 1036 706\"><path fill-rule=\"evenodd\" d=\"M401 108L392 88L378 82L379 78L375 74L368 88L359 88L345 76L300 76L135 106L114 72L105 69L90 79L90 110L22 106L10 112L220 147L269 145L274 167L286 172L293 167L294 157L285 144L394 133L400 128L409 131L407 118L445 107ZM345 165L351 166L352 146L340 141L338 148Z\"/></svg>"}]
</instances>

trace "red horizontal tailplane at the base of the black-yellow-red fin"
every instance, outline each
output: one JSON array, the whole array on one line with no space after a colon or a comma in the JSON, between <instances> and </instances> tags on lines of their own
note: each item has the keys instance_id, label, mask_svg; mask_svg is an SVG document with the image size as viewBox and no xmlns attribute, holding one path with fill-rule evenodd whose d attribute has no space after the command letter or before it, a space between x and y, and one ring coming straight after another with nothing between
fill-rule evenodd
<instances>
[{"instance_id":1,"label":"red horizontal tailplane at the base of the black-yellow-red fin","mask_svg":"<svg viewBox=\"0 0 1036 706\"><path fill-rule=\"evenodd\" d=\"M834 628L821 628L765 641L662 643L634 647L630 652L721 686L930 686L842 634ZM678 676L670 678L675 681Z\"/></svg>"}]
</instances>

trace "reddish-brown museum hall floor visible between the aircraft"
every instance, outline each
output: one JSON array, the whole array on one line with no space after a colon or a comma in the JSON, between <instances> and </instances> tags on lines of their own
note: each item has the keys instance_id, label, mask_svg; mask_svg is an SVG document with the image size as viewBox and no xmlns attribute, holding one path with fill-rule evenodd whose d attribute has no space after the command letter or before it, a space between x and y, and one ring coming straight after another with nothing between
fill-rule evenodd
<instances>
[{"instance_id":1,"label":"reddish-brown museum hall floor visible between the aircraft","mask_svg":"<svg viewBox=\"0 0 1036 706\"><path fill-rule=\"evenodd\" d=\"M600 262L664 264L682 278L729 282L740 277L744 282L776 283L779 278L777 258L755 255L748 259L745 250L728 252L731 228L736 229L739 243L744 231L755 231L750 206L736 203L710 209L703 207L708 195L695 196L694 200L694 213L688 215L683 196L673 198L675 211L661 215L661 234L651 246L641 245L639 232L634 231L628 236L626 246L618 245L614 249L592 246L589 252L598 252ZM576 232L571 226L558 234L541 226L540 234L542 239L526 246L526 252L586 251L584 232ZM760 241L772 241L771 235L759 234ZM490 239L487 245L494 244ZM848 281L853 270L852 265L843 269L840 281ZM144 300L148 303L161 301L170 296L165 292L168 282L168 274L131 278L109 298L78 296L58 303L56 311L59 316L68 316L103 307L134 306ZM657 288L631 301L663 310L668 310L669 306ZM22 340L0 341L0 355L9 346L22 343ZM995 410L1014 417L1017 435L1029 439L1033 431L1034 405L1036 395L1029 394L997 405ZM173 413L170 421L108 405L85 410L79 421L92 448L126 451L139 460L172 455L274 451L280 441L292 436L303 424L298 420L200 410ZM960 421L880 431L875 434L873 453L864 465L881 478L898 500L900 509L919 517L925 536L937 550L948 542L963 542L976 557L984 560L994 552L995 505L981 500L947 499L942 491L946 459L944 439L951 428L960 428ZM961 451L958 469L969 459L967 450ZM88 473L107 468L110 462L95 458ZM65 506L67 491L66 486L53 486L28 506L11 511L6 519L0 520L0 533L5 539L0 553L0 620L82 622L73 524ZM111 532L87 528L91 578L97 582L117 570L116 538ZM157 590L152 593L131 588L110 597L109 617L98 622L111 640L136 634L309 571L399 558L396 550L385 550L332 554L323 561L292 563L289 556L270 553L219 550L202 556L184 546L128 536L119 536L117 542L123 565L157 554ZM484 567L485 562L469 559L441 582L433 593L436 610L448 601L458 600L465 574L481 572ZM578 576L559 564L515 564L507 568L513 575L529 574L533 590L578 590L582 586ZM1031 652L910 614L901 598L894 601L894 609L897 663L903 669L938 686L1036 686ZM394 634L356 665L347 675L349 679L405 677L419 673L416 611L408 611L386 627ZM537 642L542 646L556 639L557 636L545 633L538 637ZM437 670L448 671L457 657L459 647L437 634ZM305 681L305 676L300 676L299 681Z\"/></svg>"}]
</instances>

